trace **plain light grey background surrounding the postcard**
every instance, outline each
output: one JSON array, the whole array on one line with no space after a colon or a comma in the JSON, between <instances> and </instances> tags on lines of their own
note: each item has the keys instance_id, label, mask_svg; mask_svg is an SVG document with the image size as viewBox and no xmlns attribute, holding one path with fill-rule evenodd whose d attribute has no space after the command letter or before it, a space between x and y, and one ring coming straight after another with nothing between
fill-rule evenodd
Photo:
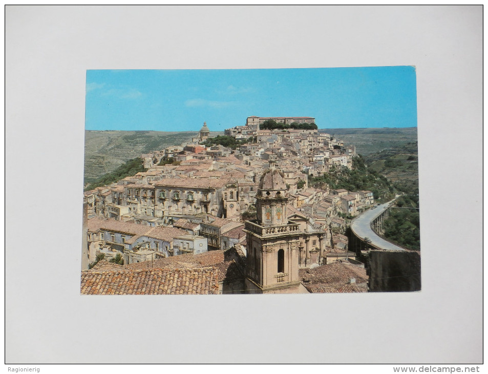
<instances>
[{"instance_id":1,"label":"plain light grey background surrounding the postcard","mask_svg":"<svg viewBox=\"0 0 488 374\"><path fill-rule=\"evenodd\" d=\"M394 65L417 67L420 293L79 295L87 69ZM481 6L7 6L5 101L6 363L481 362Z\"/></svg>"}]
</instances>

